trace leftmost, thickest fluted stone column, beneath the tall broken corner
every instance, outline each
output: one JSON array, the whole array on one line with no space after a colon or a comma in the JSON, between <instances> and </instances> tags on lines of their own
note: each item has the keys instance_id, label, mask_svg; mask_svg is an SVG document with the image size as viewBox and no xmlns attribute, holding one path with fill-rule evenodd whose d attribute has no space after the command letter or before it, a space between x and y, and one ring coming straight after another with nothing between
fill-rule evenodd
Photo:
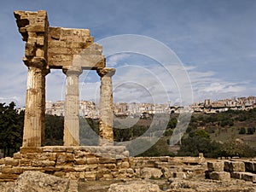
<instances>
[{"instance_id":1,"label":"leftmost, thickest fluted stone column, beneath the tall broken corner","mask_svg":"<svg viewBox=\"0 0 256 192\"><path fill-rule=\"evenodd\" d=\"M41 147L44 141L45 76L49 70L44 62L28 66L26 111L22 147Z\"/></svg>"}]
</instances>

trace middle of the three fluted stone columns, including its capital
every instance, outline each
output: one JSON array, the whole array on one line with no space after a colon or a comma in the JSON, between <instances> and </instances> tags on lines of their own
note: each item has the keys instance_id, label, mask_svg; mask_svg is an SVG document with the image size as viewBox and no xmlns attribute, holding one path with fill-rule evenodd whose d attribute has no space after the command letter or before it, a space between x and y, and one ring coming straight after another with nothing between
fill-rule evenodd
<instances>
[{"instance_id":1,"label":"middle of the three fluted stone columns, including its capital","mask_svg":"<svg viewBox=\"0 0 256 192\"><path fill-rule=\"evenodd\" d=\"M79 146L79 75L81 67L63 67L67 75L65 117L64 117L64 146Z\"/></svg>"}]
</instances>

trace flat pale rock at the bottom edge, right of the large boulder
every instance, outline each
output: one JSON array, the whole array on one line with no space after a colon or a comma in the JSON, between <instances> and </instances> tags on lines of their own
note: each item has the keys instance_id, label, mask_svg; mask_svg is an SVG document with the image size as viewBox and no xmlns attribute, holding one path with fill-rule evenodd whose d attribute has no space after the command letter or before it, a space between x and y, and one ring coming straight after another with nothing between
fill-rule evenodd
<instances>
[{"instance_id":1,"label":"flat pale rock at the bottom edge, right of the large boulder","mask_svg":"<svg viewBox=\"0 0 256 192\"><path fill-rule=\"evenodd\" d=\"M114 183L110 185L108 192L160 192L157 184L148 183L145 181L132 181L128 183Z\"/></svg>"}]
</instances>

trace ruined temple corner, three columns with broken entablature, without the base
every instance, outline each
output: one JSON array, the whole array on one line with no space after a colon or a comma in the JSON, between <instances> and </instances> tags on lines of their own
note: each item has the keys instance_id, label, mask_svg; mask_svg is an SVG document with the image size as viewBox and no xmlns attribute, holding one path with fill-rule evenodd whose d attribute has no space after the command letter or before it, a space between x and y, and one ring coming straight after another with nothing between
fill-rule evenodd
<instances>
[{"instance_id":1,"label":"ruined temple corner, three columns with broken entablature, without the base","mask_svg":"<svg viewBox=\"0 0 256 192\"><path fill-rule=\"evenodd\" d=\"M114 68L106 67L102 46L94 43L88 29L51 27L44 10L15 11L23 41L23 61L28 67L26 114L22 147L44 145L45 76L52 69L62 69L67 76L64 146L79 146L79 75L96 70L101 77L99 145L113 143Z\"/></svg>"}]
</instances>

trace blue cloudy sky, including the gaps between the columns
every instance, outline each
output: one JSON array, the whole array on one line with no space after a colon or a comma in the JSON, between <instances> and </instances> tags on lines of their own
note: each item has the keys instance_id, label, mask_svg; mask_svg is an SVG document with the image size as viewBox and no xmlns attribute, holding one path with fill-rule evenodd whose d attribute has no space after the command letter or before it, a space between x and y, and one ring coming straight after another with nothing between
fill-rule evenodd
<instances>
[{"instance_id":1,"label":"blue cloudy sky, including the gaps between the columns","mask_svg":"<svg viewBox=\"0 0 256 192\"><path fill-rule=\"evenodd\" d=\"M90 29L103 44L107 66L117 69L115 102L256 96L254 0L9 0L0 7L0 102L25 104L18 9L47 10L50 26ZM95 71L84 72L80 98L97 101L99 84ZM65 75L52 70L47 100L64 97Z\"/></svg>"}]
</instances>

